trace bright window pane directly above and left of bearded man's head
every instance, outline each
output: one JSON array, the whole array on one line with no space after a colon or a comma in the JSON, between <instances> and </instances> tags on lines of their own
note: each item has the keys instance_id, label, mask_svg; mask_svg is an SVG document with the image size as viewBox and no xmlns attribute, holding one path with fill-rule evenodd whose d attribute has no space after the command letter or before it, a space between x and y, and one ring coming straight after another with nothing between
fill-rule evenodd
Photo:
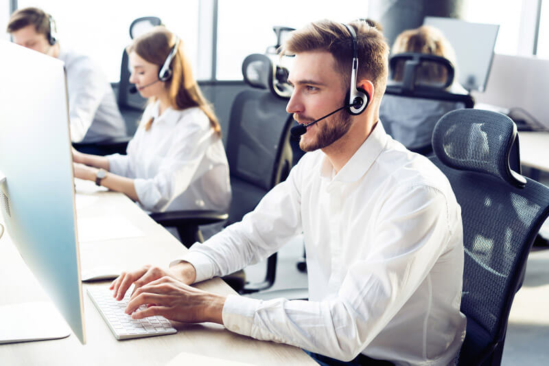
<instances>
[{"instance_id":1,"label":"bright window pane directly above and left of bearded man's head","mask_svg":"<svg viewBox=\"0 0 549 366\"><path fill-rule=\"evenodd\" d=\"M219 0L216 78L242 80L242 61L277 43L274 25L299 28L319 19L346 23L367 15L368 1Z\"/></svg>"}]
</instances>

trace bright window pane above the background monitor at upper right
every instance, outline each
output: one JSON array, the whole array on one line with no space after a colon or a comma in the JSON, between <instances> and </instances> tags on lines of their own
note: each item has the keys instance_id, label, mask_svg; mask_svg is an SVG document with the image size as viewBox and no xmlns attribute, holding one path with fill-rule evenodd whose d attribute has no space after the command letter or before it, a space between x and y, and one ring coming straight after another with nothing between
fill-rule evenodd
<instances>
[{"instance_id":1,"label":"bright window pane above the background monitor at upper right","mask_svg":"<svg viewBox=\"0 0 549 366\"><path fill-rule=\"evenodd\" d=\"M517 54L522 12L522 1L484 0L466 1L464 21L499 24L495 53Z\"/></svg>"}]
</instances>

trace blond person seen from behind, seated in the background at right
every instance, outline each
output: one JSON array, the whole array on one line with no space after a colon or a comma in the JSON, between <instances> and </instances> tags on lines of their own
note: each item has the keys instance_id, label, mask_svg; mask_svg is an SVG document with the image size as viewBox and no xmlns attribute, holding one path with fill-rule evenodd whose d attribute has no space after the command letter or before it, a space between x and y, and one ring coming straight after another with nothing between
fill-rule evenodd
<instances>
[{"instance_id":1,"label":"blond person seen from behind, seated in the background at right","mask_svg":"<svg viewBox=\"0 0 549 366\"><path fill-rule=\"evenodd\" d=\"M451 93L467 94L458 80L456 53L444 34L430 25L422 25L413 30L405 30L397 36L393 55L402 52L432 54L446 58L454 65L454 82L447 87ZM404 77L404 63L395 67L393 79L401 81ZM433 62L425 62L417 69L417 82L422 84L443 84L447 79L445 67ZM414 152L428 155L432 152L431 137L434 125L445 113L463 108L462 103L443 100L425 100L385 95L379 107L379 116L387 133Z\"/></svg>"}]
</instances>

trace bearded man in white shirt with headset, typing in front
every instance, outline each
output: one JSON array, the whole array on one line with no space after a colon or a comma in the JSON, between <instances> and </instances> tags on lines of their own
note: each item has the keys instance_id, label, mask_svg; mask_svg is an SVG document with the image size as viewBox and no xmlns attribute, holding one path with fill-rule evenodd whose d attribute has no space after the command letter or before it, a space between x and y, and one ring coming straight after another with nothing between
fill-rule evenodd
<instances>
[{"instance_id":1,"label":"bearded man in white shirt with headset, typing in front","mask_svg":"<svg viewBox=\"0 0 549 366\"><path fill-rule=\"evenodd\" d=\"M358 38L357 78L345 25L318 21L292 32L283 46L296 55L287 109L309 124L355 101L356 87L369 95L367 106L362 95L362 104L307 126L300 146L309 153L242 222L194 244L169 269L145 266L115 279L118 299L137 286L128 313L153 304L133 317L215 321L338 360L356 357L354 364L452 362L465 336L460 207L440 170L384 132L378 111L388 46L366 23L349 26ZM224 297L188 286L266 258L302 231L309 301Z\"/></svg>"}]
</instances>

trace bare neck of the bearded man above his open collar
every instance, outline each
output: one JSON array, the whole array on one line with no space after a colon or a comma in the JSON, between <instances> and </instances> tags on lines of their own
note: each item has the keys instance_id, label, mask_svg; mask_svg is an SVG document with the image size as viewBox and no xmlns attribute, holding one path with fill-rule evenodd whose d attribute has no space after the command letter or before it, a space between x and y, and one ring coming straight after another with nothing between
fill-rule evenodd
<instances>
[{"instance_id":1,"label":"bare neck of the bearded man above his open collar","mask_svg":"<svg viewBox=\"0 0 549 366\"><path fill-rule=\"evenodd\" d=\"M377 119L374 119L373 115L366 115L364 117L355 118L351 124L351 128L349 128L345 135L330 146L322 149L332 167L336 170L336 174L355 155L360 146L364 144L364 141L369 137L377 123Z\"/></svg>"}]
</instances>

